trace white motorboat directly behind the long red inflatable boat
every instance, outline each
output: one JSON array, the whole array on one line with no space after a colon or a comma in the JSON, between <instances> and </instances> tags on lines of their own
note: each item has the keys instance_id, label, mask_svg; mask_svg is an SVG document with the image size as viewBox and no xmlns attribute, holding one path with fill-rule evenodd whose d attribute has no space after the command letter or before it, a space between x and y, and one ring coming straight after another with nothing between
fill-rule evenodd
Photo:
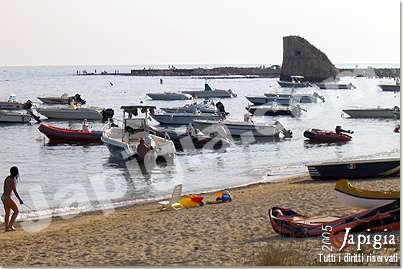
<instances>
[{"instance_id":1,"label":"white motorboat directly behind the long red inflatable boat","mask_svg":"<svg viewBox=\"0 0 403 269\"><path fill-rule=\"evenodd\" d=\"M36 109L38 113L48 119L57 120L107 120L113 117L112 109L101 109L95 107L41 107Z\"/></svg>"}]
</instances>

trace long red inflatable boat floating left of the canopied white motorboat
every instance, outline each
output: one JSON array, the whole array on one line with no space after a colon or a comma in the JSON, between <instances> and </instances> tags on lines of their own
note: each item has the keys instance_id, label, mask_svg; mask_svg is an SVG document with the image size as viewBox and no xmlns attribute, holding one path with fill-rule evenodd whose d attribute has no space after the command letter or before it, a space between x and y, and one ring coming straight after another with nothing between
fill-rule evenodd
<instances>
[{"instance_id":1,"label":"long red inflatable boat floating left of the canopied white motorboat","mask_svg":"<svg viewBox=\"0 0 403 269\"><path fill-rule=\"evenodd\" d=\"M84 131L60 128L52 125L41 124L39 131L45 134L51 142L64 143L102 143L100 131Z\"/></svg>"}]
</instances>

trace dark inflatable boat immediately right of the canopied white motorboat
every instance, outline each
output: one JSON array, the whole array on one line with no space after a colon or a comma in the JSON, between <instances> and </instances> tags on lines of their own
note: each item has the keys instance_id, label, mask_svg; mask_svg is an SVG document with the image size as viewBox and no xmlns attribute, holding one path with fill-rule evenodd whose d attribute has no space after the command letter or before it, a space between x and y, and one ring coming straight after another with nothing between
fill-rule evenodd
<instances>
[{"instance_id":1,"label":"dark inflatable boat immediately right of the canopied white motorboat","mask_svg":"<svg viewBox=\"0 0 403 269\"><path fill-rule=\"evenodd\" d=\"M177 134L174 131L160 130L150 127L150 133L156 136L170 139L177 151L193 150L193 149L210 149L210 150L223 150L231 145L228 139L198 134L190 136L186 133Z\"/></svg>"}]
</instances>

